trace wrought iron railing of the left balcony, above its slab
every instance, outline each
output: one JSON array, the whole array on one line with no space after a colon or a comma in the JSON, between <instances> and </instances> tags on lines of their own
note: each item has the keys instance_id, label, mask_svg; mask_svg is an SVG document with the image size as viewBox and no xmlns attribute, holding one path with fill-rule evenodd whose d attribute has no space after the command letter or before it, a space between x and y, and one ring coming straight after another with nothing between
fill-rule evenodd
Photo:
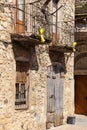
<instances>
[{"instance_id":1,"label":"wrought iron railing of the left balcony, above its slab","mask_svg":"<svg viewBox=\"0 0 87 130\"><path fill-rule=\"evenodd\" d=\"M52 27L56 27L56 24L52 23L52 16L48 9L42 12L39 3L26 4L25 10L23 10L24 7L19 7L16 8L16 34L40 40L40 29L44 28L43 36L45 41L51 42L53 35Z\"/></svg>"}]
</instances>

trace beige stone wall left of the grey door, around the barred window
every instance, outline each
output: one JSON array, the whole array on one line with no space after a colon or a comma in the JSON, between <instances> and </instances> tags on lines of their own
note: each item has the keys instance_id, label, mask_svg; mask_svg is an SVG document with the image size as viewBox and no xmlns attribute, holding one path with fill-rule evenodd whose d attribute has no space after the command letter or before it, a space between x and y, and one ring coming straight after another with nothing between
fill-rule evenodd
<instances>
[{"instance_id":1,"label":"beige stone wall left of the grey door, around the barred window","mask_svg":"<svg viewBox=\"0 0 87 130\"><path fill-rule=\"evenodd\" d=\"M46 67L48 53L45 47L31 49L32 55L29 86L29 108L15 110L15 56L29 58L29 51L20 49L20 54L13 50L11 33L14 33L13 1L0 1L0 129L1 130L36 130L46 129ZM13 10L12 10L13 9ZM36 52L36 50L38 50Z\"/></svg>"}]
</instances>

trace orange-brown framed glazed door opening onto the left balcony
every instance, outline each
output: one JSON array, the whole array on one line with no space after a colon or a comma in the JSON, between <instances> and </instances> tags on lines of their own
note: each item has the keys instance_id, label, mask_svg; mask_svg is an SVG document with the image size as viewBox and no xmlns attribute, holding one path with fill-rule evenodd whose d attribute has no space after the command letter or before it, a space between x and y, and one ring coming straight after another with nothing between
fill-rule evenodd
<instances>
[{"instance_id":1,"label":"orange-brown framed glazed door opening onto the left balcony","mask_svg":"<svg viewBox=\"0 0 87 130\"><path fill-rule=\"evenodd\" d=\"M16 32L25 32L25 0L16 0Z\"/></svg>"}]
</instances>

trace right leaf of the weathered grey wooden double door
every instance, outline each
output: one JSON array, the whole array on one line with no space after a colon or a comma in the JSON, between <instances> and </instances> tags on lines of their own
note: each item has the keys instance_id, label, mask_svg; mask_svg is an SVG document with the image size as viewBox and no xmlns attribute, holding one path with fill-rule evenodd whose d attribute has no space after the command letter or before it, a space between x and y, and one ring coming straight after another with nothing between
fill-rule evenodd
<instances>
[{"instance_id":1,"label":"right leaf of the weathered grey wooden double door","mask_svg":"<svg viewBox=\"0 0 87 130\"><path fill-rule=\"evenodd\" d=\"M63 123L63 79L57 74L55 83L55 122L54 126Z\"/></svg>"}]
</instances>

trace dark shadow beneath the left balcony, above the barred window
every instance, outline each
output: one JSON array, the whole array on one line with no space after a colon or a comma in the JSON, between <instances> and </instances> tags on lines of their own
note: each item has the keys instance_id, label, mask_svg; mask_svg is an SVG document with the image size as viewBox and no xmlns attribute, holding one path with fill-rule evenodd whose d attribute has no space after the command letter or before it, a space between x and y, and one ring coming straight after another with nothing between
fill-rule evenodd
<instances>
[{"instance_id":1,"label":"dark shadow beneath the left balcony, above the barred window","mask_svg":"<svg viewBox=\"0 0 87 130\"><path fill-rule=\"evenodd\" d=\"M39 65L37 62L37 56L35 46L25 48L20 44L13 44L13 52L15 61L29 62L29 69L38 71Z\"/></svg>"}]
</instances>

